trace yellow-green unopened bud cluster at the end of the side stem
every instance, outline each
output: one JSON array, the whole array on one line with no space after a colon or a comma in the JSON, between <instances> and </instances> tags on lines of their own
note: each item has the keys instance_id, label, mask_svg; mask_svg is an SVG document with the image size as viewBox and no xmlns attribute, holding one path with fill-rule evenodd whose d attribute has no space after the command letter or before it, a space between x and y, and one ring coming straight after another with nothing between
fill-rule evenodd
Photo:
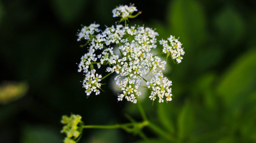
<instances>
[{"instance_id":1,"label":"yellow-green unopened bud cluster at the end of the side stem","mask_svg":"<svg viewBox=\"0 0 256 143\"><path fill-rule=\"evenodd\" d=\"M62 116L61 123L64 124L61 133L65 133L67 137L64 139L64 143L76 143L75 139L81 134L78 131L78 125L81 123L82 117L80 115L71 114L70 117L67 115Z\"/></svg>"}]
</instances>

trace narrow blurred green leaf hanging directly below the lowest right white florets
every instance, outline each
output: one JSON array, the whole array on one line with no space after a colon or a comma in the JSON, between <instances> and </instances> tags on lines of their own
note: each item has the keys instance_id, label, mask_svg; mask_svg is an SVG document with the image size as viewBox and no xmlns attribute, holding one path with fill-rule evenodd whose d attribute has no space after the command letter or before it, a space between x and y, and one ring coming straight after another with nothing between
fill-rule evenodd
<instances>
[{"instance_id":1,"label":"narrow blurred green leaf hanging directly below the lowest right white florets","mask_svg":"<svg viewBox=\"0 0 256 143\"><path fill-rule=\"evenodd\" d=\"M165 127L169 132L174 133L174 124L172 121L172 106L171 103L166 104L158 104L157 105L157 115L159 118L160 123Z\"/></svg>"}]
</instances>

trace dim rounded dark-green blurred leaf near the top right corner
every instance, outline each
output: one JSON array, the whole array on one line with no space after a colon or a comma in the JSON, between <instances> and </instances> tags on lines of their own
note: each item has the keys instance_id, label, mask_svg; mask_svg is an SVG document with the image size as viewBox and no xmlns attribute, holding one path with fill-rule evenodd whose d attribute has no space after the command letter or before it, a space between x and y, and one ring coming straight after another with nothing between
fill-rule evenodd
<instances>
[{"instance_id":1,"label":"dim rounded dark-green blurred leaf near the top right corner","mask_svg":"<svg viewBox=\"0 0 256 143\"><path fill-rule=\"evenodd\" d=\"M244 33L244 24L237 11L226 7L215 18L218 40L233 46L241 41ZM228 42L227 42L228 41Z\"/></svg>"}]
</instances>

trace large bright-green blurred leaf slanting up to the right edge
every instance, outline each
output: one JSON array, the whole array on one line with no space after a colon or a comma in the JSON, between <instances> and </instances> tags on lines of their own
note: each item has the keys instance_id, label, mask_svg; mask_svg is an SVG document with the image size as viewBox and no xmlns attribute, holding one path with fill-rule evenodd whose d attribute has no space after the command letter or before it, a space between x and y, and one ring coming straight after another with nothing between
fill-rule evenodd
<instances>
[{"instance_id":1,"label":"large bright-green blurred leaf slanting up to the right edge","mask_svg":"<svg viewBox=\"0 0 256 143\"><path fill-rule=\"evenodd\" d=\"M256 49L242 55L220 79L217 92L225 105L236 111L256 91Z\"/></svg>"}]
</instances>

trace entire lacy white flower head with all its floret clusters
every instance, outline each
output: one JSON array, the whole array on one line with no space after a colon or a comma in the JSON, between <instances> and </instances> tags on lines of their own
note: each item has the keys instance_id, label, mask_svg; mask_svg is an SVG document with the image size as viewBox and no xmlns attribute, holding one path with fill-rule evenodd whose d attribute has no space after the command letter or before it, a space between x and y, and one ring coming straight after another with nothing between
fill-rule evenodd
<instances>
[{"instance_id":1,"label":"entire lacy white flower head with all its floret clusters","mask_svg":"<svg viewBox=\"0 0 256 143\"><path fill-rule=\"evenodd\" d=\"M84 26L78 33L78 41L85 41L82 46L87 46L88 52L81 57L78 72L83 71L85 78L83 87L87 96L93 92L100 94L101 80L116 73L114 80L116 85L122 90L117 100L126 99L136 103L141 82L144 80L151 94L149 98L159 103L172 100L172 81L163 76L166 61L161 60L157 55L151 53L152 48L157 47L158 33L151 28L144 26L127 26L128 18L134 18L140 14L132 15L137 11L134 5L119 6L112 13L113 17L121 17L120 22L125 21L125 25L106 27L104 31L99 29L99 24ZM168 40L160 40L163 45L163 53L171 56L175 63L180 63L184 55L183 48L178 39L170 36ZM120 51L120 56L114 53L114 47ZM97 65L97 66L96 66ZM96 66L96 67L95 67ZM108 74L104 77L97 74L96 69L105 68ZM147 75L152 72L150 78ZM150 80L146 80L150 79Z\"/></svg>"}]
</instances>

